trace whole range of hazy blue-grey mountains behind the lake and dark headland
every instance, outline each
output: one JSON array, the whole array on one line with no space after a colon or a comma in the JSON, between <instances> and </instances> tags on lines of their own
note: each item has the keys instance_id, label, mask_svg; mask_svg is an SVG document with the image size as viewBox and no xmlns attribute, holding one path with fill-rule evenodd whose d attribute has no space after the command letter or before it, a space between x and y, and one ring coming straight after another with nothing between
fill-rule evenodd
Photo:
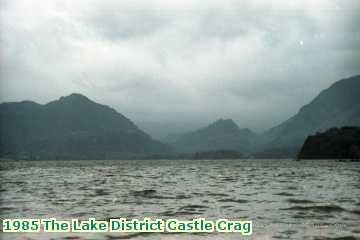
<instances>
[{"instance_id":1,"label":"whole range of hazy blue-grey mountains behind the lake and dark headland","mask_svg":"<svg viewBox=\"0 0 360 240\"><path fill-rule=\"evenodd\" d=\"M360 76L323 90L297 114L264 133L219 119L203 128L152 139L114 109L80 94L41 105L0 104L0 156L25 159L116 159L233 150L258 157L294 157L308 135L360 126Z\"/></svg>"}]
</instances>

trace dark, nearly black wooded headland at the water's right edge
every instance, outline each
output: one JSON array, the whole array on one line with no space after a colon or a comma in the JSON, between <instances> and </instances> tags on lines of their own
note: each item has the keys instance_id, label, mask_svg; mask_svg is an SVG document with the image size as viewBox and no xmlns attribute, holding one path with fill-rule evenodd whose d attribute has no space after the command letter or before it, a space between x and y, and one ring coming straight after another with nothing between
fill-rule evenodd
<instances>
[{"instance_id":1,"label":"dark, nearly black wooded headland at the water's right edge","mask_svg":"<svg viewBox=\"0 0 360 240\"><path fill-rule=\"evenodd\" d=\"M299 159L360 159L360 127L331 128L309 136Z\"/></svg>"}]
</instances>

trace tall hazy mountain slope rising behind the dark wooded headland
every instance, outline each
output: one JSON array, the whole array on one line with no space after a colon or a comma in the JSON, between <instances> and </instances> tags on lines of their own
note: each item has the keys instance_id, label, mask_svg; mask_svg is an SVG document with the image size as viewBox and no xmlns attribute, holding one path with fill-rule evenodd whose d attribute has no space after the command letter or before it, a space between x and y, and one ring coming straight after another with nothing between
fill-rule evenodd
<instances>
[{"instance_id":1,"label":"tall hazy mountain slope rising behind the dark wooded headland","mask_svg":"<svg viewBox=\"0 0 360 240\"><path fill-rule=\"evenodd\" d=\"M295 116L268 130L260 148L298 149L308 135L341 126L360 126L360 76L322 91Z\"/></svg>"}]
</instances>

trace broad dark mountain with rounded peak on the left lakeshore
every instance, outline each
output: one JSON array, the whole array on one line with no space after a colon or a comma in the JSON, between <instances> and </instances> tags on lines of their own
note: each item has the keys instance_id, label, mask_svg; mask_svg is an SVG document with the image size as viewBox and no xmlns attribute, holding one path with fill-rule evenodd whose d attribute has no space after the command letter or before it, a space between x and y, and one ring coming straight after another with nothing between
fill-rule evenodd
<instances>
[{"instance_id":1,"label":"broad dark mountain with rounded peak on the left lakeshore","mask_svg":"<svg viewBox=\"0 0 360 240\"><path fill-rule=\"evenodd\" d=\"M0 156L114 159L170 152L114 109L81 94L0 104Z\"/></svg>"}]
</instances>

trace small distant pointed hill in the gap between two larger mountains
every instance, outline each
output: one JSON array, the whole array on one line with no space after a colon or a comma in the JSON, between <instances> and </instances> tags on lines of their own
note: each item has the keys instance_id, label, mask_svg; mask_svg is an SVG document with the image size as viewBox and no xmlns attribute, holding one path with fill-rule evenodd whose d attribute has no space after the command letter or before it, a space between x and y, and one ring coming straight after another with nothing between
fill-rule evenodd
<instances>
[{"instance_id":1,"label":"small distant pointed hill in the gap between two larger mountains","mask_svg":"<svg viewBox=\"0 0 360 240\"><path fill-rule=\"evenodd\" d=\"M240 129L231 119L220 119L205 128L183 134L173 147L182 153L235 150L249 152L255 134L249 129Z\"/></svg>"}]
</instances>

